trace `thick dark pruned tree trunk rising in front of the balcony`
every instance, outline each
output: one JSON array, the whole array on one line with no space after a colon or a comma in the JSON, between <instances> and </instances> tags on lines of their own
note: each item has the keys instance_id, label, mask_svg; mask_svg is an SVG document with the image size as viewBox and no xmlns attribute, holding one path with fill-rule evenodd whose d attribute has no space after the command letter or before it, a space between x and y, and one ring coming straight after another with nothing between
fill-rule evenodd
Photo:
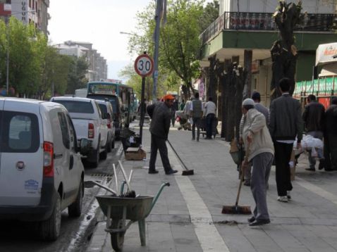
<instances>
[{"instance_id":1,"label":"thick dark pruned tree trunk rising in front of the balcony","mask_svg":"<svg viewBox=\"0 0 337 252\"><path fill-rule=\"evenodd\" d=\"M283 77L288 77L291 81L290 94L293 94L295 89L297 49L293 30L295 25L299 24L303 18L301 10L302 1L298 1L298 4L287 4L285 0L281 0L273 15L281 38L274 42L271 47L271 60L273 62L271 100L281 96L278 82Z\"/></svg>"}]
</instances>

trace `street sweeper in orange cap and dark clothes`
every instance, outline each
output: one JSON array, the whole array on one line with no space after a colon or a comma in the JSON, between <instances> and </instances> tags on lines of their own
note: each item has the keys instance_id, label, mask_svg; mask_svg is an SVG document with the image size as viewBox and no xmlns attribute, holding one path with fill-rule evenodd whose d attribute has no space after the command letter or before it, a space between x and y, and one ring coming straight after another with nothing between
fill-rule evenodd
<instances>
[{"instance_id":1,"label":"street sweeper in orange cap and dark clothes","mask_svg":"<svg viewBox=\"0 0 337 252\"><path fill-rule=\"evenodd\" d=\"M157 152L161 157L165 174L171 175L178 172L173 170L170 165L169 156L167 153L166 140L169 137L171 124L171 106L174 97L171 94L164 96L164 102L154 103L147 106L147 113L151 117L149 131L151 132L151 156L149 158L149 174L156 174L156 159Z\"/></svg>"}]
</instances>

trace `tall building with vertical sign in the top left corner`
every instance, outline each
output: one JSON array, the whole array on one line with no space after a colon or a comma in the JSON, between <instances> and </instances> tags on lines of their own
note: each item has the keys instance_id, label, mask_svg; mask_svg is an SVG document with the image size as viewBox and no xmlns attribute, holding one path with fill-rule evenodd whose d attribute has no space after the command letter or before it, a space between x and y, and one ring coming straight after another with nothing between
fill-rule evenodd
<instances>
[{"instance_id":1,"label":"tall building with vertical sign in the top left corner","mask_svg":"<svg viewBox=\"0 0 337 252\"><path fill-rule=\"evenodd\" d=\"M33 23L48 35L49 0L0 0L0 18L14 16L25 25Z\"/></svg>"}]
</instances>

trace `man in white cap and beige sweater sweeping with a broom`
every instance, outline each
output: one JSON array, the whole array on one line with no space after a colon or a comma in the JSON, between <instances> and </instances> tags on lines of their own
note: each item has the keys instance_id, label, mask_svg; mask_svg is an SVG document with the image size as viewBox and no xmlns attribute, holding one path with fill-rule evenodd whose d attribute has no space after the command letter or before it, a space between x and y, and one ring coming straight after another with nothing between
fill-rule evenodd
<instances>
[{"instance_id":1,"label":"man in white cap and beige sweater sweeping with a broom","mask_svg":"<svg viewBox=\"0 0 337 252\"><path fill-rule=\"evenodd\" d=\"M255 102L245 99L242 110L245 116L243 142L246 153L242 167L245 169L248 163L252 163L250 188L256 204L248 222L250 226L258 226L270 222L266 206L266 184L273 163L274 145L266 126L266 118L255 109Z\"/></svg>"}]
</instances>

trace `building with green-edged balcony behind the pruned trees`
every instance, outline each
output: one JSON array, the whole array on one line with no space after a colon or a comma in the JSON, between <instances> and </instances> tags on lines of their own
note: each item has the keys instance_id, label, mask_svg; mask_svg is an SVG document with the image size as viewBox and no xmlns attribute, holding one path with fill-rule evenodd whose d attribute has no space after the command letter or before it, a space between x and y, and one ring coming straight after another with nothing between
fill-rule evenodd
<instances>
[{"instance_id":1,"label":"building with green-edged balcony behind the pruned trees","mask_svg":"<svg viewBox=\"0 0 337 252\"><path fill-rule=\"evenodd\" d=\"M336 28L333 27L336 2L302 1L302 13L306 15L294 32L298 50L296 81L312 79L319 44L337 41ZM245 51L252 51L252 91L260 92L266 106L269 106L271 92L270 49L279 39L278 28L272 18L277 4L278 1L269 0L220 0L219 18L200 35L200 65L205 68L209 67L212 56L221 62L236 57L240 65L244 65Z\"/></svg>"}]
</instances>

